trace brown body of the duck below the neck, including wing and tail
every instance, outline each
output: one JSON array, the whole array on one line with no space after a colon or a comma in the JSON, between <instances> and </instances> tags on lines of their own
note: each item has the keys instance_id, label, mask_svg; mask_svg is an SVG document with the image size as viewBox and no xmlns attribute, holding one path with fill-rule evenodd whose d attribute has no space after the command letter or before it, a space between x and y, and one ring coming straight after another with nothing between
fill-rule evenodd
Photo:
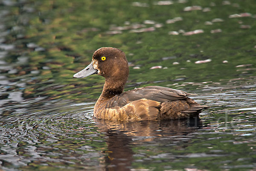
<instances>
[{"instance_id":1,"label":"brown body of the duck below the neck, including wing and tail","mask_svg":"<svg viewBox=\"0 0 256 171\"><path fill-rule=\"evenodd\" d=\"M200 105L182 90L159 86L135 88L111 99L97 101L96 118L116 121L184 119L197 116L207 106Z\"/></svg>"}]
</instances>

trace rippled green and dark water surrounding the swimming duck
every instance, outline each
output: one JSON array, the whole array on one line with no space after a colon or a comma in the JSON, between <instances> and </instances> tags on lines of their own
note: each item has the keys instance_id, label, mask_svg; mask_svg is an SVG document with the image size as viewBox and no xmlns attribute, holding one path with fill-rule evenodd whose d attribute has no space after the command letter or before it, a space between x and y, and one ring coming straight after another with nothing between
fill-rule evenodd
<instances>
[{"instance_id":1,"label":"rippled green and dark water surrounding the swimming duck","mask_svg":"<svg viewBox=\"0 0 256 171\"><path fill-rule=\"evenodd\" d=\"M0 169L255 170L255 9L254 0L0 0ZM210 108L186 120L93 118L104 79L72 76L102 46L127 54L125 90L176 88Z\"/></svg>"}]
</instances>

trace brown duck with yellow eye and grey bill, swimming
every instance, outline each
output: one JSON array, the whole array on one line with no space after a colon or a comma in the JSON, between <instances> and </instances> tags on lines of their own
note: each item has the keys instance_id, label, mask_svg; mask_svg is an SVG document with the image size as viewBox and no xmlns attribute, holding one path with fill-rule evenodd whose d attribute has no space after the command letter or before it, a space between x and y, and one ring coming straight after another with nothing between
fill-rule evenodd
<instances>
[{"instance_id":1,"label":"brown duck with yellow eye and grey bill, swimming","mask_svg":"<svg viewBox=\"0 0 256 171\"><path fill-rule=\"evenodd\" d=\"M128 61L122 50L102 47L93 53L92 62L73 78L101 75L105 84L93 109L97 119L117 122L186 119L197 117L206 105L200 105L182 90L147 86L124 92L129 75Z\"/></svg>"}]
</instances>

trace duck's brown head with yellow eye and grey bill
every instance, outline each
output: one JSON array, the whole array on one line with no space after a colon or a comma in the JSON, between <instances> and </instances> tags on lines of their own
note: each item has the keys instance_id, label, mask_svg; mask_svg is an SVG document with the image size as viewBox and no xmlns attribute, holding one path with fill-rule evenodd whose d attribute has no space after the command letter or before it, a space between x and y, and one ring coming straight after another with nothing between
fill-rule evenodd
<instances>
[{"instance_id":1,"label":"duck's brown head with yellow eye and grey bill","mask_svg":"<svg viewBox=\"0 0 256 171\"><path fill-rule=\"evenodd\" d=\"M92 62L73 75L73 78L84 78L89 75L102 75L106 79L125 79L128 78L129 67L125 53L113 47L102 47L93 53Z\"/></svg>"}]
</instances>

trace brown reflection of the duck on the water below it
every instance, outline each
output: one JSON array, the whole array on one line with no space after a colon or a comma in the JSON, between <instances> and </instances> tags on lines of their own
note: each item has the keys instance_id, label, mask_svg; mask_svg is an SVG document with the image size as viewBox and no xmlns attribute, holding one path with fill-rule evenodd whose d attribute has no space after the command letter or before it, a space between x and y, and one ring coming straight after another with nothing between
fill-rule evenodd
<instances>
[{"instance_id":1,"label":"brown reflection of the duck on the water below it","mask_svg":"<svg viewBox=\"0 0 256 171\"><path fill-rule=\"evenodd\" d=\"M132 148L144 144L166 144L173 136L186 136L201 127L198 117L184 120L114 123L96 120L101 132L106 133L106 171L130 171L134 160ZM165 139L167 138L167 140ZM171 142L170 142L171 143Z\"/></svg>"}]
</instances>

